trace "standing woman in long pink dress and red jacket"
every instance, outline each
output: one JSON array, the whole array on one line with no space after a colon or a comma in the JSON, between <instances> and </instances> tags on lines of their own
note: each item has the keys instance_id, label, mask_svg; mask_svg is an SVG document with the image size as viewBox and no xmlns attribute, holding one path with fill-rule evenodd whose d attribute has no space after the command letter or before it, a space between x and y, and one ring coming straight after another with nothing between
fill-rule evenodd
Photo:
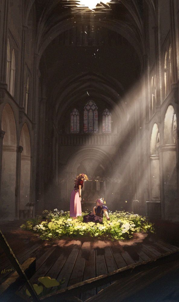
<instances>
[{"instance_id":1,"label":"standing woman in long pink dress and red jacket","mask_svg":"<svg viewBox=\"0 0 179 302\"><path fill-rule=\"evenodd\" d=\"M82 188L83 182L88 180L86 174L79 174L75 179L75 187L70 196L70 217L76 219L78 216L82 216Z\"/></svg>"}]
</instances>

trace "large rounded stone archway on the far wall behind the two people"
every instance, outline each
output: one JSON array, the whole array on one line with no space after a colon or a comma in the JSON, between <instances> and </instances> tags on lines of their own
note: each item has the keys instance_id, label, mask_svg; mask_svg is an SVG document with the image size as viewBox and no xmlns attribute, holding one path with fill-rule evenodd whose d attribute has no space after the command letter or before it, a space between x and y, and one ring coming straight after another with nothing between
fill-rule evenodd
<instances>
[{"instance_id":1,"label":"large rounded stone archway on the far wall behind the two people","mask_svg":"<svg viewBox=\"0 0 179 302\"><path fill-rule=\"evenodd\" d=\"M96 179L97 168L101 165L101 170L105 171L103 179ZM82 191L82 199L84 198L85 207L82 207L82 210L90 210L91 206L94 206L95 200L100 197L106 199L109 203L112 204L113 200L113 184L110 184L107 181L107 178L110 180L111 172L115 173L115 162L112 157L104 150L98 148L82 148L75 152L75 154L69 159L65 167L65 174L68 174L68 181L64 182L64 185L61 190L61 199L69 200L71 191L74 187L74 179L77 174L79 174L79 168L85 169L85 171L80 171L80 173L86 173L90 179L90 182L84 183L84 188ZM68 171L68 172L67 172ZM64 172L63 172L64 174ZM103 185L100 185L100 181L103 181ZM88 207L87 206L88 203Z\"/></svg>"}]
</instances>

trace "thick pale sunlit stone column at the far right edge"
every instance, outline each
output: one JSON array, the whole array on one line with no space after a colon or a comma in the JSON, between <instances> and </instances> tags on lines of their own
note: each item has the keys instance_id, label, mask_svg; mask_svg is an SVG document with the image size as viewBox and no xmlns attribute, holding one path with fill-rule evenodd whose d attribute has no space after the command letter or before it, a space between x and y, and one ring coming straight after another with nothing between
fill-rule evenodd
<instances>
[{"instance_id":1,"label":"thick pale sunlit stone column at the far right edge","mask_svg":"<svg viewBox=\"0 0 179 302\"><path fill-rule=\"evenodd\" d=\"M165 220L179 220L176 145L159 149L161 178L161 210Z\"/></svg>"}]
</instances>

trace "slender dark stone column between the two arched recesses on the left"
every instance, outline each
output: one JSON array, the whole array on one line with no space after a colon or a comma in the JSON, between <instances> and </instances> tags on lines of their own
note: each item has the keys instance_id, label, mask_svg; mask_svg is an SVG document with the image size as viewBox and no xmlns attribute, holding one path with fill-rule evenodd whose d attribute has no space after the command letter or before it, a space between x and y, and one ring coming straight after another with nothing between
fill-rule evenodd
<instances>
[{"instance_id":1,"label":"slender dark stone column between the two arched recesses on the left","mask_svg":"<svg viewBox=\"0 0 179 302\"><path fill-rule=\"evenodd\" d=\"M21 191L21 153L23 147L19 146L17 149L17 170L16 170L16 189L15 189L15 217L19 219L19 205L20 205L20 191Z\"/></svg>"}]
</instances>

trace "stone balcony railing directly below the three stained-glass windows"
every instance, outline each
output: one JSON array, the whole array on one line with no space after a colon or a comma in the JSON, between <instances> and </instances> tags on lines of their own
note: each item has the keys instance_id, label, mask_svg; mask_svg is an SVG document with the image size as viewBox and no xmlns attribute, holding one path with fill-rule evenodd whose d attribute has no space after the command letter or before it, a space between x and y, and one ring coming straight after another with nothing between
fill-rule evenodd
<instances>
[{"instance_id":1,"label":"stone balcony railing directly below the three stained-glass windows","mask_svg":"<svg viewBox=\"0 0 179 302\"><path fill-rule=\"evenodd\" d=\"M62 146L69 145L103 145L115 146L119 142L119 134L60 134L59 142Z\"/></svg>"}]
</instances>

